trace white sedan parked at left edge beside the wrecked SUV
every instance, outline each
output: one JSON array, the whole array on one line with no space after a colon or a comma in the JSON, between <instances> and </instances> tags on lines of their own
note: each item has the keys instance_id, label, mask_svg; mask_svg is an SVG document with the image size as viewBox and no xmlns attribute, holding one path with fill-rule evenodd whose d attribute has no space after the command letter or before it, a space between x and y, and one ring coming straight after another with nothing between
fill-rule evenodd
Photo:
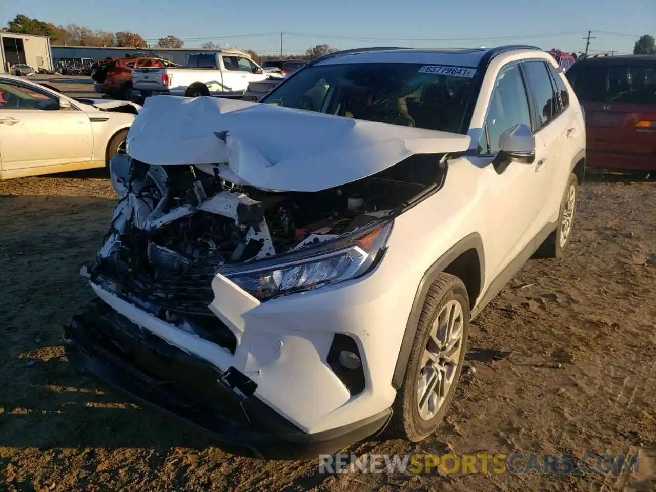
<instances>
[{"instance_id":1,"label":"white sedan parked at left edge beside the wrecked SUV","mask_svg":"<svg viewBox=\"0 0 656 492\"><path fill-rule=\"evenodd\" d=\"M139 110L0 74L0 179L104 167L125 149Z\"/></svg>"}]
</instances>

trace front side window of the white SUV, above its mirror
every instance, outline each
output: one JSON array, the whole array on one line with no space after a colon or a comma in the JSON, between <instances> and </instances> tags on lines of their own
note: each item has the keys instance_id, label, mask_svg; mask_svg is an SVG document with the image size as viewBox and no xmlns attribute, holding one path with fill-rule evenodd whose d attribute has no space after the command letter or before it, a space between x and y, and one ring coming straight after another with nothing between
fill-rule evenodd
<instances>
[{"instance_id":1,"label":"front side window of the white SUV, above its mirror","mask_svg":"<svg viewBox=\"0 0 656 492\"><path fill-rule=\"evenodd\" d=\"M501 135L515 125L531 128L531 110L518 64L502 68L487 108L479 154L498 154Z\"/></svg>"}]
</instances>

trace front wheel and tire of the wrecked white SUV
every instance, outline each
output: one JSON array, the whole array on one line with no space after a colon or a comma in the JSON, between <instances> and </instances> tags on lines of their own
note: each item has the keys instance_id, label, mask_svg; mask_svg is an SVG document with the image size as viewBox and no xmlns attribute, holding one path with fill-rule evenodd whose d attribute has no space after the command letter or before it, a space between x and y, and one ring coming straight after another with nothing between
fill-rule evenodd
<instances>
[{"instance_id":1,"label":"front wheel and tire of the wrecked white SUV","mask_svg":"<svg viewBox=\"0 0 656 492\"><path fill-rule=\"evenodd\" d=\"M428 289L401 388L392 405L394 437L419 442L444 419L460 379L469 337L462 280L440 274Z\"/></svg>"}]
</instances>

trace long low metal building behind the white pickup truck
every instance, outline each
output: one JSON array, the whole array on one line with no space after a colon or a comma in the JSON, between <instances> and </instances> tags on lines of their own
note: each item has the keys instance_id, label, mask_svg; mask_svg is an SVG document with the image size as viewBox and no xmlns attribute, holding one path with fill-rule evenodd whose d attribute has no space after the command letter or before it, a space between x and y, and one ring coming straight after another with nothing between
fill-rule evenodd
<instances>
[{"instance_id":1,"label":"long low metal building behind the white pickup truck","mask_svg":"<svg viewBox=\"0 0 656 492\"><path fill-rule=\"evenodd\" d=\"M103 60L108 56L115 56L117 58L124 58L126 54L133 54L134 52L154 54L161 56L172 62L184 65L187 58L192 53L197 52L217 52L218 49L203 49L203 48L115 48L115 47L96 47L96 46L53 46L52 47L52 60L55 68L65 67L70 64L76 67L87 67L93 62Z\"/></svg>"}]
</instances>

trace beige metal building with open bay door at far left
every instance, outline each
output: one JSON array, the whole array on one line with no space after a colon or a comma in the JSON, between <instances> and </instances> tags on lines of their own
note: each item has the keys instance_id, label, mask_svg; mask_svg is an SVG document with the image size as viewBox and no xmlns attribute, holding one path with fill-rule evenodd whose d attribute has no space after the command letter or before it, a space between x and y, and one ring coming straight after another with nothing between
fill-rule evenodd
<instances>
[{"instance_id":1,"label":"beige metal building with open bay door at far left","mask_svg":"<svg viewBox=\"0 0 656 492\"><path fill-rule=\"evenodd\" d=\"M52 70L50 38L0 32L0 72L9 72L9 67L18 63L28 64L34 70Z\"/></svg>"}]
</instances>

